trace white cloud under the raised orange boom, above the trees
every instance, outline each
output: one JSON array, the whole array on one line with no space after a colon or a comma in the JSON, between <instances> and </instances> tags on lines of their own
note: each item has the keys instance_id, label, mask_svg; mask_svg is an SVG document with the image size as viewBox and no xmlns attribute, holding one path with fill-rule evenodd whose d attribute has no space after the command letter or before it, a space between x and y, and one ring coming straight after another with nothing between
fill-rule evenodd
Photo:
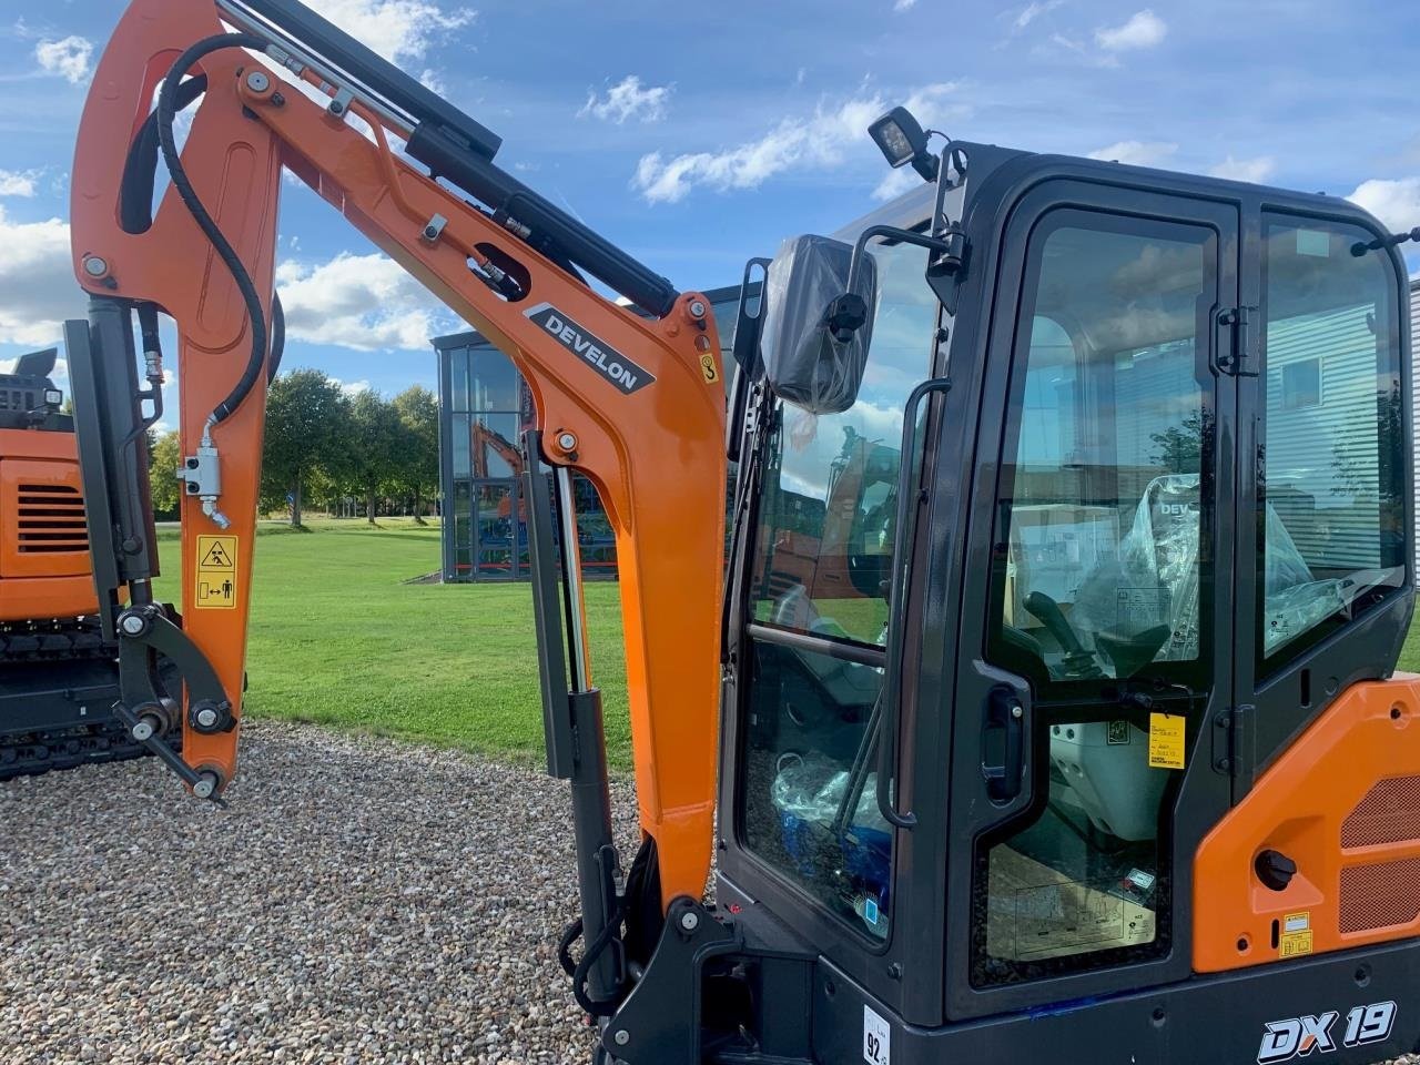
<instances>
[{"instance_id":1,"label":"white cloud under the raised orange boom, above the trees","mask_svg":"<svg viewBox=\"0 0 1420 1065\"><path fill-rule=\"evenodd\" d=\"M392 258L341 253L328 263L285 261L275 271L287 335L356 351L427 351L457 327Z\"/></svg>"}]
</instances>

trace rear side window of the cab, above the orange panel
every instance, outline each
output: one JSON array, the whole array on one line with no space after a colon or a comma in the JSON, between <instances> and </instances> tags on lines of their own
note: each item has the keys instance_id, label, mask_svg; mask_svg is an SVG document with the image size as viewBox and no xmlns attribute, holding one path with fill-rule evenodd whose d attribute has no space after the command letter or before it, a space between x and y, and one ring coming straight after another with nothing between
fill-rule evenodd
<instances>
[{"instance_id":1,"label":"rear side window of the cab, above the orange panel","mask_svg":"<svg viewBox=\"0 0 1420 1065\"><path fill-rule=\"evenodd\" d=\"M1355 226L1277 214L1264 237L1257 656L1272 672L1400 588L1409 548L1390 258Z\"/></svg>"}]
</instances>

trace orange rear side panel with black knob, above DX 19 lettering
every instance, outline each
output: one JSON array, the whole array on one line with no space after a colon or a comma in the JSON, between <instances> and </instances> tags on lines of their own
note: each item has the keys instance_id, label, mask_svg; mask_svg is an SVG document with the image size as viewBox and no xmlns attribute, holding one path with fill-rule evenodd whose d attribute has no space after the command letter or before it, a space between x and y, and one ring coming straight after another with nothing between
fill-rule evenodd
<instances>
[{"instance_id":1,"label":"orange rear side panel with black knob, above DX 19 lettering","mask_svg":"<svg viewBox=\"0 0 1420 1065\"><path fill-rule=\"evenodd\" d=\"M1254 872L1279 851L1298 872ZM1420 936L1420 676L1356 684L1198 848L1194 968L1218 973Z\"/></svg>"}]
</instances>

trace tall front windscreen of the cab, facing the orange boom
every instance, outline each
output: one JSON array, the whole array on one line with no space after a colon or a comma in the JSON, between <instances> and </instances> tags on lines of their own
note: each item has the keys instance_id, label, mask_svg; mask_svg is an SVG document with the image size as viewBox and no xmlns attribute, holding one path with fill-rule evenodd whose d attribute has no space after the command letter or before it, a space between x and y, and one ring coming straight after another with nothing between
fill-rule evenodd
<instances>
[{"instance_id":1,"label":"tall front windscreen of the cab, facing the orange boom","mask_svg":"<svg viewBox=\"0 0 1420 1065\"><path fill-rule=\"evenodd\" d=\"M856 403L790 403L758 498L741 838L872 940L890 920L892 831L878 811L903 408L930 373L937 301L926 253L878 246L879 304Z\"/></svg>"}]
</instances>

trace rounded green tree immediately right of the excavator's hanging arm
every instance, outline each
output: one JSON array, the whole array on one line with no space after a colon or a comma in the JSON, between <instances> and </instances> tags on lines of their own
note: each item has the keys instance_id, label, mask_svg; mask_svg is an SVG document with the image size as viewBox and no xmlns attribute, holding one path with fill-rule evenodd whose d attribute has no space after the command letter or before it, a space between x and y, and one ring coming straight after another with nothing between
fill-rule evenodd
<instances>
[{"instance_id":1,"label":"rounded green tree immediately right of the excavator's hanging arm","mask_svg":"<svg viewBox=\"0 0 1420 1065\"><path fill-rule=\"evenodd\" d=\"M295 369L271 382L266 446L261 454L261 506L290 506L300 527L312 480L341 469L349 443L349 400L318 369Z\"/></svg>"}]
</instances>

